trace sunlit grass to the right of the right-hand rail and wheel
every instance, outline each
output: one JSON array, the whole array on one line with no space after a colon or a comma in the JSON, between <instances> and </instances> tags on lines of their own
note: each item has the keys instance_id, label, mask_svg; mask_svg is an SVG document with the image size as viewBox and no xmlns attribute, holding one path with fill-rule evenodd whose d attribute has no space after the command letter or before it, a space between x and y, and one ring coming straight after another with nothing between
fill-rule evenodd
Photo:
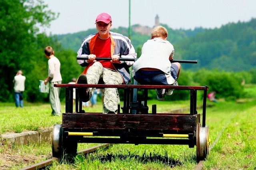
<instances>
[{"instance_id":1,"label":"sunlit grass to the right of the right-hand rail and wheel","mask_svg":"<svg viewBox=\"0 0 256 170\"><path fill-rule=\"evenodd\" d=\"M223 133L205 162L207 169L256 168L255 103L254 99L242 104L223 103L218 107L215 115L219 121L208 121L210 137L215 140L220 128Z\"/></svg>"}]
</instances>

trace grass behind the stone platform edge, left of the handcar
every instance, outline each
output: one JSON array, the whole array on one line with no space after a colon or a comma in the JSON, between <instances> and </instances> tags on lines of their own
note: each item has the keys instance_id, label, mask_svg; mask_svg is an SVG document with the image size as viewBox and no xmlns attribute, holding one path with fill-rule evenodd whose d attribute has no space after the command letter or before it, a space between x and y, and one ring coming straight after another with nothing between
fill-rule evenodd
<instances>
[{"instance_id":1,"label":"grass behind the stone platform edge, left of the handcar","mask_svg":"<svg viewBox=\"0 0 256 170\"><path fill-rule=\"evenodd\" d=\"M0 103L0 134L20 133L25 130L37 131L62 122L62 117L51 115L50 104L24 103L24 105L23 108L16 108L14 103Z\"/></svg>"}]
</instances>

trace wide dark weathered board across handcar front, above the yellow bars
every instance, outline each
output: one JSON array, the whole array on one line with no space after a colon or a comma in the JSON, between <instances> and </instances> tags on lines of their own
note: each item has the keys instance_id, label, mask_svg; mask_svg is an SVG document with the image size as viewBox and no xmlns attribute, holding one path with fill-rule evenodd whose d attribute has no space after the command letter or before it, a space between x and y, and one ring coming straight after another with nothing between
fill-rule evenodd
<instances>
[{"instance_id":1,"label":"wide dark weathered board across handcar front, above the yellow bars","mask_svg":"<svg viewBox=\"0 0 256 170\"><path fill-rule=\"evenodd\" d=\"M113 130L196 130L200 115L63 113L63 128Z\"/></svg>"}]
</instances>

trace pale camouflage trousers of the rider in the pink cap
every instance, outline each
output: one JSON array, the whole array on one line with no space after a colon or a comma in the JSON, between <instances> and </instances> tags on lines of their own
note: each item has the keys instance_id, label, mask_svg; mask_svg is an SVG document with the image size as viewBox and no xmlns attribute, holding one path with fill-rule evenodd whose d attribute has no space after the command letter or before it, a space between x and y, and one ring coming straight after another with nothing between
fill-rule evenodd
<instances>
[{"instance_id":1,"label":"pale camouflage trousers of the rider in the pink cap","mask_svg":"<svg viewBox=\"0 0 256 170\"><path fill-rule=\"evenodd\" d=\"M103 68L100 62L95 62L89 67L86 73L88 84L98 84L99 80L103 80L107 85L120 85L123 83L123 78L120 73ZM95 88L89 88L90 96L94 93ZM119 94L116 88L104 89L103 113L117 112L118 103L120 103Z\"/></svg>"}]
</instances>

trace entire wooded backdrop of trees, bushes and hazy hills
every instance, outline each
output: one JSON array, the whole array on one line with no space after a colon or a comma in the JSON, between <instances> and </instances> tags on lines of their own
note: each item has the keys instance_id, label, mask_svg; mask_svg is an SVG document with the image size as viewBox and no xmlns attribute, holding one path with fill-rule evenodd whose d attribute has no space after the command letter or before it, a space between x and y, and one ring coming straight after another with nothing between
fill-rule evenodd
<instances>
[{"instance_id":1,"label":"entire wooded backdrop of trees, bushes and hazy hills","mask_svg":"<svg viewBox=\"0 0 256 170\"><path fill-rule=\"evenodd\" d=\"M58 14L46 10L42 1L12 0L0 1L0 101L14 101L12 80L18 70L26 76L25 100L29 102L48 101L48 94L39 93L39 80L48 75L48 59L44 47L50 45L61 63L62 83L78 77L84 68L76 61L85 36L96 29L66 35L51 35L39 31L38 26L47 27ZM256 83L256 20L227 24L219 29L172 30L168 40L174 44L175 59L198 60L198 64L182 64L179 85L208 85L210 90L222 96L239 98L241 82ZM239 30L239 31L238 31ZM128 36L128 28L113 29ZM132 32L132 44L138 57L141 47L150 35ZM238 73L239 71L239 73ZM228 86L228 88L224 88ZM232 88L233 89L232 89ZM227 93L227 89L229 94ZM231 90L232 89L232 90ZM120 95L122 95L120 93ZM149 95L149 98L155 94ZM187 99L189 92L176 91L173 99ZM64 100L62 89L60 98Z\"/></svg>"}]
</instances>

